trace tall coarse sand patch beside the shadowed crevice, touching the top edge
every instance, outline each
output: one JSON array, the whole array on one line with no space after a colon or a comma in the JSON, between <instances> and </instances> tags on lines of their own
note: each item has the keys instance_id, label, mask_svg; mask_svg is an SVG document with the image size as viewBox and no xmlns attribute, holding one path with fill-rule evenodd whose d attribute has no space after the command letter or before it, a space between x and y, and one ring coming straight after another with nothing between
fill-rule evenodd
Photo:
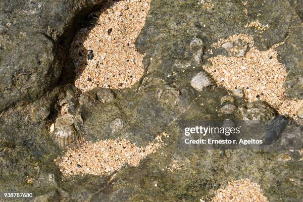
<instances>
[{"instance_id":1,"label":"tall coarse sand patch beside the shadowed crevice, touching the top edge","mask_svg":"<svg viewBox=\"0 0 303 202\"><path fill-rule=\"evenodd\" d=\"M95 87L129 88L143 76L143 57L135 40L144 26L151 0L109 0L92 29L78 31L70 54L75 85L82 92Z\"/></svg>"}]
</instances>

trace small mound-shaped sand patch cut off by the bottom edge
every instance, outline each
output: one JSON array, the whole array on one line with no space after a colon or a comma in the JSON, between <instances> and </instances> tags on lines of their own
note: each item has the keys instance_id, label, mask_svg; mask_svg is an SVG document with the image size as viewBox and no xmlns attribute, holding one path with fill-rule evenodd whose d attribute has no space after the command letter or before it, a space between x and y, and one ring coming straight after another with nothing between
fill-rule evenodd
<instances>
[{"instance_id":1,"label":"small mound-shaped sand patch cut off by the bottom edge","mask_svg":"<svg viewBox=\"0 0 303 202\"><path fill-rule=\"evenodd\" d=\"M216 191L212 202L268 202L262 194L260 185L249 179L229 182L225 188Z\"/></svg>"}]
</instances>

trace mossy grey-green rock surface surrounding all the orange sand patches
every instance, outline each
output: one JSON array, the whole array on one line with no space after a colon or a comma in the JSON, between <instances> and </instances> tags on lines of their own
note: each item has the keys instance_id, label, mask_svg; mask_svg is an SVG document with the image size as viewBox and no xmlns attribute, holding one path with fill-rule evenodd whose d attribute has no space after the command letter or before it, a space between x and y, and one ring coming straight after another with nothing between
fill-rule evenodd
<instances>
[{"instance_id":1,"label":"mossy grey-green rock surface surrounding all the orange sand patches","mask_svg":"<svg viewBox=\"0 0 303 202\"><path fill-rule=\"evenodd\" d=\"M197 91L191 85L204 72L207 58L222 54L209 54L207 48L236 33L252 35L259 50L285 41L277 51L288 70L288 97L303 98L302 19L296 1L266 1L263 5L262 1L246 5L214 1L214 7L207 10L198 0L152 0L136 42L137 49L146 53L143 79L132 89L94 89L80 96L74 87L55 86L62 61L72 65L68 55L61 58L58 42L70 34L67 29L72 30L69 26L80 10L100 2L0 2L0 192L32 192L35 201L199 201L203 196L211 198L230 178L245 176L261 185L269 201L302 198L302 152L183 149L178 145L183 136L177 124L180 120L244 116L268 120L276 115L266 103L245 103L241 96L225 101L235 102L238 108L224 114L221 98L231 92L214 86ZM268 29L259 33L245 28L259 13ZM239 47L242 51L245 44ZM61 76L73 74L67 69ZM69 106L66 113L73 117L68 118L71 122L60 121L66 116L61 114L64 104ZM49 110L48 115L43 108ZM63 179L54 163L64 152L53 139L58 122L68 134L93 142L121 137L144 147L162 132L169 138L166 147L137 167L124 167L111 176ZM291 144L288 141L296 139L300 131L283 133L283 144Z\"/></svg>"}]
</instances>

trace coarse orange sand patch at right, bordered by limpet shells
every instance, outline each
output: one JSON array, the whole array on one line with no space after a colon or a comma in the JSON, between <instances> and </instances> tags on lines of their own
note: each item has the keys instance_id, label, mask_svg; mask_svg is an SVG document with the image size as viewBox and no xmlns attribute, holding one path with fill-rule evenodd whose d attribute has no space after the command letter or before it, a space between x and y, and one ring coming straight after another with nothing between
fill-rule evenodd
<instances>
[{"instance_id":1,"label":"coarse orange sand patch at right, bordered by limpet shells","mask_svg":"<svg viewBox=\"0 0 303 202\"><path fill-rule=\"evenodd\" d=\"M217 55L208 60L212 65L203 68L217 81L230 91L242 89L247 101L266 101L281 114L297 119L296 111L303 101L286 99L284 83L287 71L277 59L275 45L269 50L260 51L253 47L253 37L245 34L233 35L213 44L220 47L226 42L238 39L249 44L250 50L243 57Z\"/></svg>"}]
</instances>

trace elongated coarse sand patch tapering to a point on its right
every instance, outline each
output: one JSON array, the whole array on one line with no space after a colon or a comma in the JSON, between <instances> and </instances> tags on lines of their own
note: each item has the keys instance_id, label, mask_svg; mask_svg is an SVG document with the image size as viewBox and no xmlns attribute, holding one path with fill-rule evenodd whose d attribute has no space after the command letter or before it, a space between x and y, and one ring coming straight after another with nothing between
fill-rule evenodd
<instances>
[{"instance_id":1,"label":"elongated coarse sand patch tapering to a point on its right","mask_svg":"<svg viewBox=\"0 0 303 202\"><path fill-rule=\"evenodd\" d=\"M125 139L84 142L79 149L70 148L62 157L55 159L55 164L60 167L64 177L77 174L109 175L125 165L139 165L140 160L163 145L162 135L158 135L156 141L145 148L137 147Z\"/></svg>"}]
</instances>

